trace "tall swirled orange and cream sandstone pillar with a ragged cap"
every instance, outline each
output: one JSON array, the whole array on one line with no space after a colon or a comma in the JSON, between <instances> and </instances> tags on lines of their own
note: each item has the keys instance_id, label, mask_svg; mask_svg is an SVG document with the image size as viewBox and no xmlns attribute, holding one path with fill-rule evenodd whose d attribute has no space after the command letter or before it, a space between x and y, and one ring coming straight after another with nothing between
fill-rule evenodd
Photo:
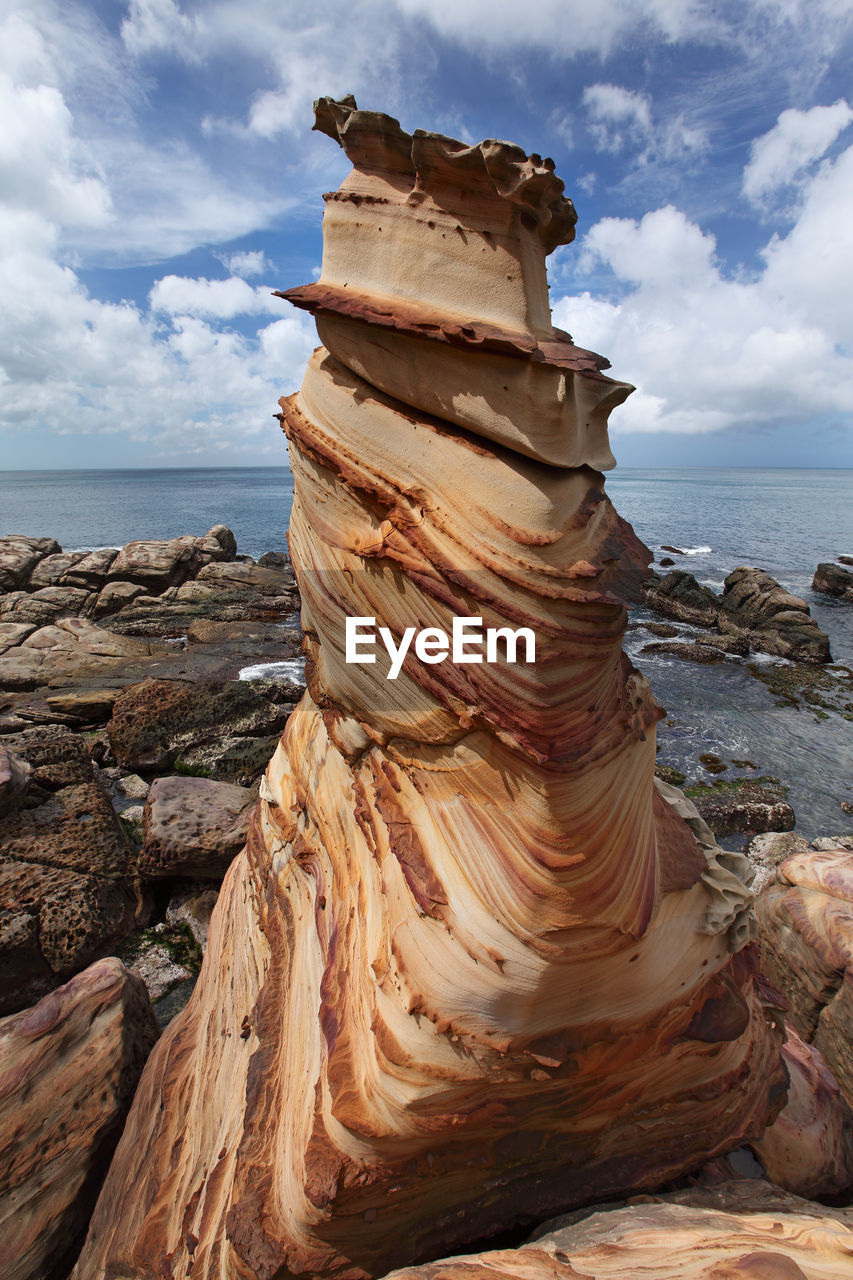
<instances>
[{"instance_id":1,"label":"tall swirled orange and cream sandstone pillar with a ragged cap","mask_svg":"<svg viewBox=\"0 0 853 1280\"><path fill-rule=\"evenodd\" d=\"M353 170L287 294L325 343L282 402L309 691L78 1280L379 1276L660 1185L784 1100L745 860L653 782L621 652L649 553L599 474L629 388L551 326L553 164L316 118ZM388 678L356 617L526 627L535 662L433 631Z\"/></svg>"}]
</instances>

